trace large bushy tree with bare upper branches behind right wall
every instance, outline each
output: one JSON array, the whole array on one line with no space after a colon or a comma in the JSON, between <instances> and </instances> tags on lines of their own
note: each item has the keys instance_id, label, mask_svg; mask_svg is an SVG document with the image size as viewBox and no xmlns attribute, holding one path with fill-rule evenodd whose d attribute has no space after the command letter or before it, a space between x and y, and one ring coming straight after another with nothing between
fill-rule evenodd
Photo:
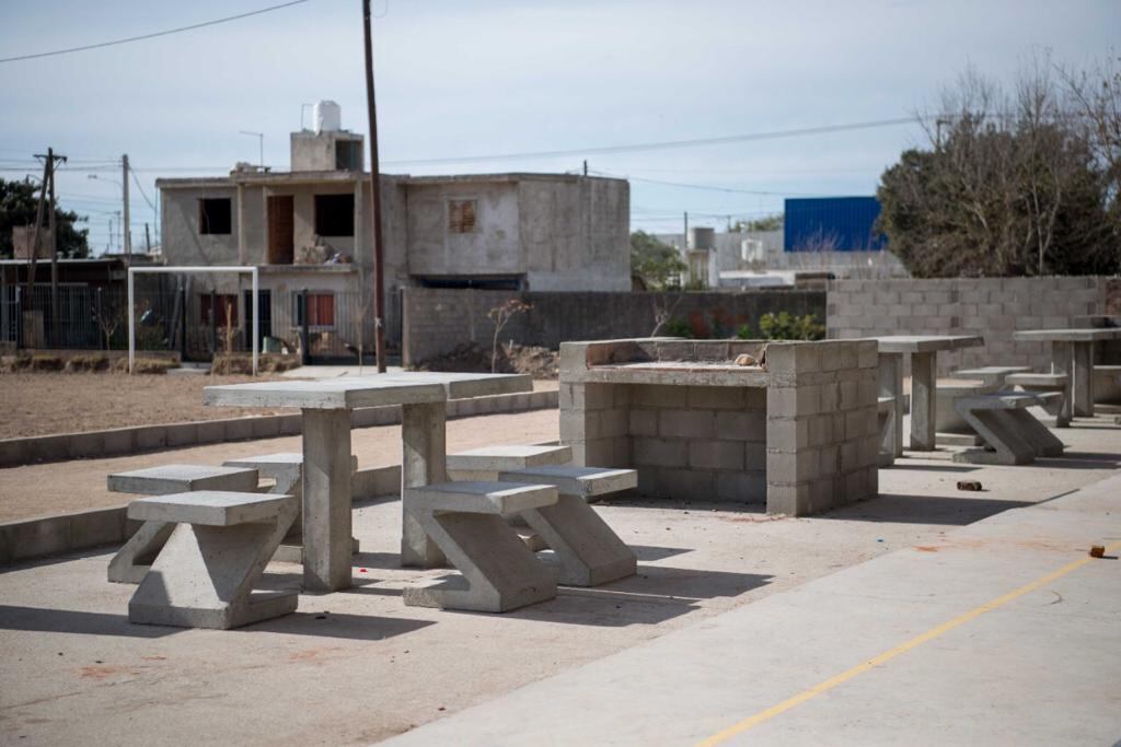
<instances>
[{"instance_id":1,"label":"large bushy tree with bare upper branches behind right wall","mask_svg":"<svg viewBox=\"0 0 1121 747\"><path fill-rule=\"evenodd\" d=\"M1034 60L1011 93L967 71L929 146L883 172L879 230L911 274L1117 272L1117 190L1053 69Z\"/></svg>"}]
</instances>

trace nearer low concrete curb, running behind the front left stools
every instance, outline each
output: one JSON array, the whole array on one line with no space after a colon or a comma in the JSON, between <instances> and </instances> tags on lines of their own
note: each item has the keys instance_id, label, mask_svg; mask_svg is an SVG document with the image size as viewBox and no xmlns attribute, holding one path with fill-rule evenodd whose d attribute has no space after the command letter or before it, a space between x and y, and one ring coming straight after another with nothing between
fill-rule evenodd
<instances>
[{"instance_id":1,"label":"nearer low concrete curb, running behind the front left stools","mask_svg":"<svg viewBox=\"0 0 1121 747\"><path fill-rule=\"evenodd\" d=\"M351 478L352 501L397 495L401 466L359 469ZM127 516L128 504L71 514L0 522L0 566L89 548L122 544L140 529Z\"/></svg>"}]
</instances>

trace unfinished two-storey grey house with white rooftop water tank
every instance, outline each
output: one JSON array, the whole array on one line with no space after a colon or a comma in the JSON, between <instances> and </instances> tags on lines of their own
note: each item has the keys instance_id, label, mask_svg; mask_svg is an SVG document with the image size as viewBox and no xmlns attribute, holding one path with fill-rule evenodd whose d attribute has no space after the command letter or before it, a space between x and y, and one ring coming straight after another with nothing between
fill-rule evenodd
<instances>
[{"instance_id":1,"label":"unfinished two-storey grey house with white rooftop water tank","mask_svg":"<svg viewBox=\"0 0 1121 747\"><path fill-rule=\"evenodd\" d=\"M332 106L323 102L319 106ZM370 177L363 137L337 127L291 133L291 170L239 164L229 176L159 179L169 265L257 265L262 336L290 337L306 289L318 328L372 316ZM410 286L511 290L629 290L630 190L622 179L565 174L381 175L387 336L399 330L397 290ZM224 305L245 278L198 277ZM265 312L267 305L267 314ZM337 310L336 310L337 309ZM241 316L239 318L244 318ZM344 337L343 332L340 332ZM353 337L353 334L350 335Z\"/></svg>"}]
</instances>

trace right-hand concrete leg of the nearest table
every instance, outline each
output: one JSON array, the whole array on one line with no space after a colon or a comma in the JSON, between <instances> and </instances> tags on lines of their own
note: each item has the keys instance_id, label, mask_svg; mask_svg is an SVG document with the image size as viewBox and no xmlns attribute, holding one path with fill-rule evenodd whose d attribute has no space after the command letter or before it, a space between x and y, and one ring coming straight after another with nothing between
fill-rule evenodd
<instances>
[{"instance_id":1,"label":"right-hand concrete leg of the nearest table","mask_svg":"<svg viewBox=\"0 0 1121 747\"><path fill-rule=\"evenodd\" d=\"M439 568L447 559L409 505L408 488L447 482L444 402L401 405L401 566Z\"/></svg>"}]
</instances>

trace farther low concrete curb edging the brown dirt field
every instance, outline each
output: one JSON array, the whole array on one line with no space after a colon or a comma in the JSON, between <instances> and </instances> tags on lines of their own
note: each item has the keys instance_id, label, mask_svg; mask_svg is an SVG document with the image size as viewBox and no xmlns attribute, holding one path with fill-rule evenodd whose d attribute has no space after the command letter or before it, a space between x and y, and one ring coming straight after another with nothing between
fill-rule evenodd
<instances>
[{"instance_id":1,"label":"farther low concrete curb edging the brown dirt field","mask_svg":"<svg viewBox=\"0 0 1121 747\"><path fill-rule=\"evenodd\" d=\"M556 408L558 391L499 394L447 403L448 418L500 412L525 412ZM395 426L401 422L399 407L368 408L351 413L353 428ZM247 441L278 436L298 436L300 415L249 415L225 420L205 420L165 426L137 426L80 433L58 433L0 440L0 467L18 467L41 461L120 457L165 448Z\"/></svg>"}]
</instances>

